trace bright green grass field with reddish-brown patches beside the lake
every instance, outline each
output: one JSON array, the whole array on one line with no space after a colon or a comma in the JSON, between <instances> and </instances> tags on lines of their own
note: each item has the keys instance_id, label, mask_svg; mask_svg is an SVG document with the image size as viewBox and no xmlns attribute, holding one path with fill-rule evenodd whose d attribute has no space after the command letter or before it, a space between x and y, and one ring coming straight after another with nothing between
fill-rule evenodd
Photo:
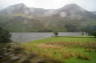
<instances>
[{"instance_id":1,"label":"bright green grass field with reddish-brown patches beside the lake","mask_svg":"<svg viewBox=\"0 0 96 63\"><path fill-rule=\"evenodd\" d=\"M96 63L96 38L93 37L50 37L22 46L29 53L61 63Z\"/></svg>"}]
</instances>

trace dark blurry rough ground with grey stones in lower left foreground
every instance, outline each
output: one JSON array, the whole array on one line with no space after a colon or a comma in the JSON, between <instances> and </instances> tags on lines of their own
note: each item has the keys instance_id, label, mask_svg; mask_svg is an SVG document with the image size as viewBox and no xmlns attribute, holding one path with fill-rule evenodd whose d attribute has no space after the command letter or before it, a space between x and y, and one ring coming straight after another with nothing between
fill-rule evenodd
<instances>
[{"instance_id":1,"label":"dark blurry rough ground with grey stones in lower left foreground","mask_svg":"<svg viewBox=\"0 0 96 63\"><path fill-rule=\"evenodd\" d=\"M61 63L34 52L27 53L20 43L0 43L0 47L0 63Z\"/></svg>"}]
</instances>

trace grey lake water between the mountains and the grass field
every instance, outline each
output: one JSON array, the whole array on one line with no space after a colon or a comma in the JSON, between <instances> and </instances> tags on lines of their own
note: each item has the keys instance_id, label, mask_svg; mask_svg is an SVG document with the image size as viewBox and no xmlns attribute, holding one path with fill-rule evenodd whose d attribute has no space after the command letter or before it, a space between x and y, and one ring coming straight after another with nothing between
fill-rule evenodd
<instances>
[{"instance_id":1,"label":"grey lake water between the mountains and the grass field","mask_svg":"<svg viewBox=\"0 0 96 63\"><path fill-rule=\"evenodd\" d=\"M32 33L11 33L11 40L14 42L29 42L54 36L48 32L32 32ZM81 36L81 32L59 32L59 36Z\"/></svg>"}]
</instances>

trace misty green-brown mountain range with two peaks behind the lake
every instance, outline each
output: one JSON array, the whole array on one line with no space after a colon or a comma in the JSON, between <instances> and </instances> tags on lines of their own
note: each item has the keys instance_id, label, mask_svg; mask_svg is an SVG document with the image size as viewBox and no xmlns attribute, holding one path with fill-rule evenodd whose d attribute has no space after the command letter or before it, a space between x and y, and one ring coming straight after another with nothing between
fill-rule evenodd
<instances>
[{"instance_id":1,"label":"misty green-brown mountain range with two peaks behind the lake","mask_svg":"<svg viewBox=\"0 0 96 63\"><path fill-rule=\"evenodd\" d=\"M81 31L96 25L96 15L76 4L59 9L28 8L20 3L0 11L0 24L9 31Z\"/></svg>"}]
</instances>

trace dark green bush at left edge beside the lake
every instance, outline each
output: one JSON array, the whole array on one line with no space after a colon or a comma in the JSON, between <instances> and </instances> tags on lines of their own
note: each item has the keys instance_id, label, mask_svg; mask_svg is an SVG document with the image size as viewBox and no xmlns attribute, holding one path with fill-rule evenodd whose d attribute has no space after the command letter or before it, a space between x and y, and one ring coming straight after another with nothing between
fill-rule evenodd
<instances>
[{"instance_id":1,"label":"dark green bush at left edge beside the lake","mask_svg":"<svg viewBox=\"0 0 96 63\"><path fill-rule=\"evenodd\" d=\"M10 33L0 27L0 42L10 42Z\"/></svg>"}]
</instances>

